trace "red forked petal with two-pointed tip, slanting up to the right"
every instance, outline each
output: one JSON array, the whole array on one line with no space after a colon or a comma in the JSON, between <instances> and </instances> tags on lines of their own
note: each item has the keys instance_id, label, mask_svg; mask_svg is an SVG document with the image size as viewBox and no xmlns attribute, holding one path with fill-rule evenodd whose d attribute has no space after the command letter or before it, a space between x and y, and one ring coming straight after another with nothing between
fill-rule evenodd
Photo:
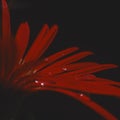
<instances>
[{"instance_id":1,"label":"red forked petal with two-pointed tip, slanting up to the right","mask_svg":"<svg viewBox=\"0 0 120 120\"><path fill-rule=\"evenodd\" d=\"M49 47L50 43L53 41L57 29L57 25L54 25L49 31L47 25L43 27L34 44L25 56L25 62L35 61L39 57L41 57L41 55L45 52L45 50Z\"/></svg>"}]
</instances>

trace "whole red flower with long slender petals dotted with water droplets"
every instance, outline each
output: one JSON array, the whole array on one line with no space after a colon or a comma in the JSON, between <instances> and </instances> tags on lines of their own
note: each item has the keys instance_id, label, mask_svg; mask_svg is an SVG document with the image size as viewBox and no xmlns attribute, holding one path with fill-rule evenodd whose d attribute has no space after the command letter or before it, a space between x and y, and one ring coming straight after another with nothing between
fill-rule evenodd
<instances>
[{"instance_id":1,"label":"whole red flower with long slender petals dotted with water droplets","mask_svg":"<svg viewBox=\"0 0 120 120\"><path fill-rule=\"evenodd\" d=\"M105 119L116 118L95 103L87 93L120 97L119 82L99 78L94 73L116 68L114 64L77 62L92 52L77 52L72 47L42 59L53 41L58 26L45 24L29 51L25 54L30 36L28 23L22 23L15 37L11 34L10 16L6 0L2 0L2 36L0 38L0 83L6 88L34 92L57 91L72 96Z\"/></svg>"}]
</instances>

